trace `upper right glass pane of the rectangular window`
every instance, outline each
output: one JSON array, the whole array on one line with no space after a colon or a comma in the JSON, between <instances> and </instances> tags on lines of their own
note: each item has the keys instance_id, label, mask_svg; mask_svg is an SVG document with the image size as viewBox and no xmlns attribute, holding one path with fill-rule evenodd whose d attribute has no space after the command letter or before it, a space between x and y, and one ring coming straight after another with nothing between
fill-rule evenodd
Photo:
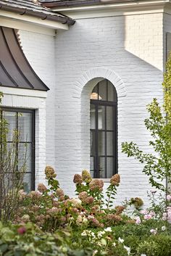
<instances>
[{"instance_id":1,"label":"upper right glass pane of the rectangular window","mask_svg":"<svg viewBox=\"0 0 171 256\"><path fill-rule=\"evenodd\" d=\"M31 141L32 137L32 114L18 113L18 131L20 131L20 141Z\"/></svg>"}]
</instances>

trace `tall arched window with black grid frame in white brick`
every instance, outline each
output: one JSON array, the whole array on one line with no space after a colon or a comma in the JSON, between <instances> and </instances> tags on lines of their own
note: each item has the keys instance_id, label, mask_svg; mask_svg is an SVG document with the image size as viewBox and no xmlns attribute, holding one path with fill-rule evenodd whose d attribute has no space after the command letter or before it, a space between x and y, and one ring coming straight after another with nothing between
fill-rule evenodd
<instances>
[{"instance_id":1,"label":"tall arched window with black grid frame in white brick","mask_svg":"<svg viewBox=\"0 0 171 256\"><path fill-rule=\"evenodd\" d=\"M91 176L111 178L117 173L117 92L101 80L91 93Z\"/></svg>"}]
</instances>

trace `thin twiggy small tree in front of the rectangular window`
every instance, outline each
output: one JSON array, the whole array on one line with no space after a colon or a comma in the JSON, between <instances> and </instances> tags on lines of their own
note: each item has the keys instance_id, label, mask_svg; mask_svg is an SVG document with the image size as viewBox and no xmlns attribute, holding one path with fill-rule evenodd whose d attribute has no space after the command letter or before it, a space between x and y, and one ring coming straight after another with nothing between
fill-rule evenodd
<instances>
[{"instance_id":1,"label":"thin twiggy small tree in front of the rectangular window","mask_svg":"<svg viewBox=\"0 0 171 256\"><path fill-rule=\"evenodd\" d=\"M0 103L3 94L0 93ZM26 150L22 166L18 167L18 142L20 133L13 131L12 142L7 142L9 133L7 120L0 117L0 220L11 220L18 207L18 191L22 187L25 173Z\"/></svg>"}]
</instances>

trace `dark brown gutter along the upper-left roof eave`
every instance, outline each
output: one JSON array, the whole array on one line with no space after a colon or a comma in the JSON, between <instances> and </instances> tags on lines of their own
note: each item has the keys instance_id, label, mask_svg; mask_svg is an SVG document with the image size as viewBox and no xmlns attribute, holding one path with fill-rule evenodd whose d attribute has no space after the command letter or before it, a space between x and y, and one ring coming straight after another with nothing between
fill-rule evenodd
<instances>
[{"instance_id":1,"label":"dark brown gutter along the upper-left roof eave","mask_svg":"<svg viewBox=\"0 0 171 256\"><path fill-rule=\"evenodd\" d=\"M70 17L60 17L57 15L46 15L43 12L35 12L26 8L18 8L18 7L9 7L5 4L0 4L0 10L7 11L7 12L15 12L17 15L30 15L33 17L40 18L41 20L52 20L52 21L57 21L62 24L67 24L67 25L74 25L75 20L72 20Z\"/></svg>"}]
</instances>

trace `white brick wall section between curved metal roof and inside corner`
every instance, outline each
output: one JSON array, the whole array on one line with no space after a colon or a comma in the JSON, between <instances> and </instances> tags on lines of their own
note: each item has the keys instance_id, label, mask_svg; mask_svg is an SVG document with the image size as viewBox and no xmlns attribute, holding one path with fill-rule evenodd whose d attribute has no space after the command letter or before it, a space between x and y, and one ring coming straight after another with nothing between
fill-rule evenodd
<instances>
[{"instance_id":1,"label":"white brick wall section between curved metal roof and inside corner","mask_svg":"<svg viewBox=\"0 0 171 256\"><path fill-rule=\"evenodd\" d=\"M36 116L36 124L40 131L41 136L39 137L39 144L46 143L46 155L40 153L43 156L40 160L43 162L39 172L41 175L38 176L38 182L44 180L44 168L46 165L54 166L55 163L55 117L54 117L54 104L55 104L55 52L54 52L54 37L46 36L39 33L32 33L24 30L20 30L20 41L22 44L22 49L27 57L30 65L35 70L36 74L43 80L43 82L50 88L50 91L47 93L46 98L46 115L42 116L41 114ZM38 120L44 120L46 127L41 125ZM38 149L38 145L36 148Z\"/></svg>"}]
</instances>

